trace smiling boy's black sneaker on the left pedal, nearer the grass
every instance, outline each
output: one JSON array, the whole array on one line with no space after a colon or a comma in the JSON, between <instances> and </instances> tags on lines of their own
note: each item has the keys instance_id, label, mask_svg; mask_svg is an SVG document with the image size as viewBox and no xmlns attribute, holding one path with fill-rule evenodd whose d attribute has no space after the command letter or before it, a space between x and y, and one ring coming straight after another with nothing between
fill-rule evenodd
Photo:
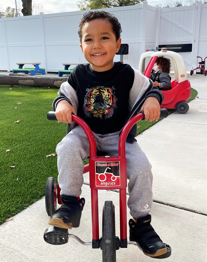
<instances>
[{"instance_id":1,"label":"smiling boy's black sneaker on the left pedal, nearer the grass","mask_svg":"<svg viewBox=\"0 0 207 262\"><path fill-rule=\"evenodd\" d=\"M85 205L85 199L61 195L63 204L52 215L49 225L71 229L80 225L81 213Z\"/></svg>"}]
</instances>

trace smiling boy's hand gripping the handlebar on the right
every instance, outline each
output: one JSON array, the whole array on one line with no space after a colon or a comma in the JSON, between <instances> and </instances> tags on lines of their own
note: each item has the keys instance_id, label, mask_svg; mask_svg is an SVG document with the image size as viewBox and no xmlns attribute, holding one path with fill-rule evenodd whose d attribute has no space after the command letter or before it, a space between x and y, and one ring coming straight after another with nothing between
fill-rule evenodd
<instances>
[{"instance_id":1,"label":"smiling boy's hand gripping the handlebar on the right","mask_svg":"<svg viewBox=\"0 0 207 262\"><path fill-rule=\"evenodd\" d=\"M140 111L144 111L146 121L158 121L160 117L160 104L156 97L148 97L142 105Z\"/></svg>"}]
</instances>

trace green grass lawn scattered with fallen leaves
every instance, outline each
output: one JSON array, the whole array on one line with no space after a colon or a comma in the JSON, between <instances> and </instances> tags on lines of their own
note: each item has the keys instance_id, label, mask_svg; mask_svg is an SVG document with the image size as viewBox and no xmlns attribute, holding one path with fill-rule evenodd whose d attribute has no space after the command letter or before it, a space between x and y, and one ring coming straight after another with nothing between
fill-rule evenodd
<instances>
[{"instance_id":1,"label":"green grass lawn scattered with fallen leaves","mask_svg":"<svg viewBox=\"0 0 207 262\"><path fill-rule=\"evenodd\" d=\"M49 176L57 181L57 155L46 155L56 153L67 128L47 120L57 89L10 88L0 86L0 224L41 199ZM192 94L194 99L197 92L192 89ZM138 133L153 124L139 123Z\"/></svg>"}]
</instances>

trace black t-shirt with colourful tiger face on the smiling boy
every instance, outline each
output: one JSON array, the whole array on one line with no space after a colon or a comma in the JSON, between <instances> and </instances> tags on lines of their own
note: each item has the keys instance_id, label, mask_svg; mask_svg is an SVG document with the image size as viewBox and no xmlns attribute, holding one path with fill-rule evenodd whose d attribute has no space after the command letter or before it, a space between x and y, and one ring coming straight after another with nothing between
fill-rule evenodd
<instances>
[{"instance_id":1,"label":"black t-shirt with colourful tiger face on the smiling boy","mask_svg":"<svg viewBox=\"0 0 207 262\"><path fill-rule=\"evenodd\" d=\"M68 77L68 83L77 91L78 116L97 134L121 130L129 114L133 82L133 69L121 62L104 72L92 70L90 64L80 64Z\"/></svg>"}]
</instances>

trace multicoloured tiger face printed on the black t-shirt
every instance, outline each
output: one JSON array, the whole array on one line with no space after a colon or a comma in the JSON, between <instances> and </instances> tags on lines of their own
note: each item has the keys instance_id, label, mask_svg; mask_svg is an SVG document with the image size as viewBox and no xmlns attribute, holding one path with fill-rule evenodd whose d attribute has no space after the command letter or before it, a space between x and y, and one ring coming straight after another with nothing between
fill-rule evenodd
<instances>
[{"instance_id":1,"label":"multicoloured tiger face printed on the black t-shirt","mask_svg":"<svg viewBox=\"0 0 207 262\"><path fill-rule=\"evenodd\" d=\"M86 89L83 111L86 117L107 119L115 114L117 109L117 98L115 97L115 86L95 86Z\"/></svg>"}]
</instances>

